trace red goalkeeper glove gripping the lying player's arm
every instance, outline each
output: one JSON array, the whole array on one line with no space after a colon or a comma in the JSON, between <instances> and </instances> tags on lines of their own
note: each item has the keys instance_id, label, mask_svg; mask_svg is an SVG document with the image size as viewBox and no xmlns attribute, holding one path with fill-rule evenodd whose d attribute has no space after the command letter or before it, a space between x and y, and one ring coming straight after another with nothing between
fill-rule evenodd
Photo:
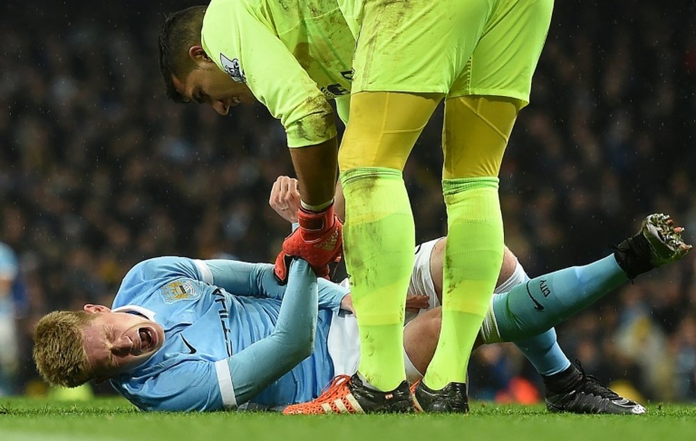
<instances>
[{"instance_id":1,"label":"red goalkeeper glove gripping the lying player's arm","mask_svg":"<svg viewBox=\"0 0 696 441\"><path fill-rule=\"evenodd\" d=\"M333 204L321 213L297 210L299 228L283 241L274 273L287 282L291 257L305 259L319 277L329 278L329 264L339 262L343 245L343 224L333 213Z\"/></svg>"}]
</instances>

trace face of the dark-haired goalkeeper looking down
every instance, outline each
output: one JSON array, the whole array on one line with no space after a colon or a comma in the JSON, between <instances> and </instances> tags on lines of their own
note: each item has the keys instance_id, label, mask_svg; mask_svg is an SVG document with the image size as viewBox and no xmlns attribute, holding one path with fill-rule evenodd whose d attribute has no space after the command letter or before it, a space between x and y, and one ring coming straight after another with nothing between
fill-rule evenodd
<instances>
[{"instance_id":1,"label":"face of the dark-haired goalkeeper looking down","mask_svg":"<svg viewBox=\"0 0 696 441\"><path fill-rule=\"evenodd\" d=\"M237 104L253 104L255 97L244 83L237 83L217 67L203 52L194 58L195 67L184 79L173 76L172 83L186 99L209 104L221 115L227 115Z\"/></svg>"}]
</instances>

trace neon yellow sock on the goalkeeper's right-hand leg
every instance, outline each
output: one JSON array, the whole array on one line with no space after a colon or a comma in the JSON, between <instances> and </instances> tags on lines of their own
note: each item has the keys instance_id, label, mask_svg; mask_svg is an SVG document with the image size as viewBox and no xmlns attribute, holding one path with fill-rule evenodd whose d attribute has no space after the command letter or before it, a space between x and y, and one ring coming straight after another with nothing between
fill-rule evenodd
<instances>
[{"instance_id":1,"label":"neon yellow sock on the goalkeeper's right-hand leg","mask_svg":"<svg viewBox=\"0 0 696 441\"><path fill-rule=\"evenodd\" d=\"M442 329L424 382L442 389L466 383L466 368L500 265L503 216L498 178L444 179L448 236L443 272Z\"/></svg>"}]
</instances>

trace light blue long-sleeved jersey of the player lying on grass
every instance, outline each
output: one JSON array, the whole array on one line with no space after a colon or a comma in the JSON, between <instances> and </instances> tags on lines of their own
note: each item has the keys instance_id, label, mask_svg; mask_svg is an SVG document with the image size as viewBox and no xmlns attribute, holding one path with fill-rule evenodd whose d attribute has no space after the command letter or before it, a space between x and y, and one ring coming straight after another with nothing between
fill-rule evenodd
<instances>
[{"instance_id":1,"label":"light blue long-sleeved jersey of the player lying on grass","mask_svg":"<svg viewBox=\"0 0 696 441\"><path fill-rule=\"evenodd\" d=\"M298 263L311 277L293 286L293 276L299 278ZM318 284L318 303L315 294L313 310L303 312L307 306L300 303L311 300L295 291L309 289L310 282L315 292ZM276 323L281 326L286 289L283 303L290 303L294 289L296 310L283 312L284 332L278 335L274 330ZM280 286L270 264L185 257L145 260L123 279L113 310L159 323L164 344L143 364L112 378L111 384L143 410L274 408L309 401L333 377L326 341L331 317L347 293L324 279L317 282L303 261L293 263L290 282ZM317 305L318 316L313 317ZM301 337L312 344L311 332L306 331L312 320L317 323L312 355L285 366L285 346ZM308 335L294 334L295 330Z\"/></svg>"}]
</instances>

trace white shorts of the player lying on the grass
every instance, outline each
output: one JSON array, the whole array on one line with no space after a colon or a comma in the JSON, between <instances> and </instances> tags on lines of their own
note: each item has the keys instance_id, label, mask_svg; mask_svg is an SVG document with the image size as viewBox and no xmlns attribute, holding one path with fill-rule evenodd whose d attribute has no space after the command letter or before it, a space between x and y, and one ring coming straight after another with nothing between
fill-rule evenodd
<instances>
[{"instance_id":1,"label":"white shorts of the player lying on the grass","mask_svg":"<svg viewBox=\"0 0 696 441\"><path fill-rule=\"evenodd\" d=\"M428 307L427 310L420 310L418 314L406 312L404 327L420 314L440 306L440 300L437 298L432 274L430 273L430 255L435 244L441 239L421 243L416 247L416 259L413 262L409 294L428 296ZM343 287L349 287L347 279L340 284ZM327 346L333 361L334 375L353 375L358 371L358 364L360 364L360 336L358 334L358 320L356 316L353 314L333 314ZM409 383L422 378L422 374L413 366L409 356L406 355L405 348L404 365L406 367L406 378L409 380Z\"/></svg>"}]
</instances>

